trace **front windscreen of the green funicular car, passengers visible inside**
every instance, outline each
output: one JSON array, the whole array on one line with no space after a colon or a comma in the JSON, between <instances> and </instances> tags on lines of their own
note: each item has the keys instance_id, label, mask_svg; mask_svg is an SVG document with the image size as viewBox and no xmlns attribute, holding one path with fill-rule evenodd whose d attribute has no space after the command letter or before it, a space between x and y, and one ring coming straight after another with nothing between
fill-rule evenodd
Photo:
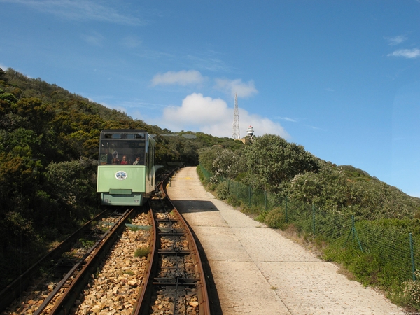
<instances>
[{"instance_id":1,"label":"front windscreen of the green funicular car, passengers visible inside","mask_svg":"<svg viewBox=\"0 0 420 315\"><path fill-rule=\"evenodd\" d=\"M127 135L132 136L132 134ZM99 165L145 165L144 137L139 139L137 134L134 134L133 138L122 137L120 140L114 137L105 138L101 139L99 144Z\"/></svg>"}]
</instances>

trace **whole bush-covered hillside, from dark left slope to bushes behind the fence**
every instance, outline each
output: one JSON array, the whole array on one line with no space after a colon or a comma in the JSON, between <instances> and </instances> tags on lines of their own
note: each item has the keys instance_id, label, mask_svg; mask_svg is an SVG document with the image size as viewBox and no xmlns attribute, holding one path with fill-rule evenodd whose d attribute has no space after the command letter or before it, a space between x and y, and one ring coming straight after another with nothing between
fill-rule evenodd
<instances>
[{"instance_id":1,"label":"whole bush-covered hillside, from dark left slope to bushes behind the fence","mask_svg":"<svg viewBox=\"0 0 420 315\"><path fill-rule=\"evenodd\" d=\"M200 160L215 176L357 218L419 216L419 198L278 136L258 137L250 146L202 132L174 133L40 78L0 69L0 289L97 213L99 133L113 128L154 134L156 164Z\"/></svg>"}]
</instances>

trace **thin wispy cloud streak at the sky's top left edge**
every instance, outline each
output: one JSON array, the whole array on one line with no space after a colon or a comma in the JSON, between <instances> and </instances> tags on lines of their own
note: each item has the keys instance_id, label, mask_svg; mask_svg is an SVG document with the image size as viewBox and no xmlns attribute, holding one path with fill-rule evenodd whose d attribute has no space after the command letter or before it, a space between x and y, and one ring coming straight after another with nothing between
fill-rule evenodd
<instances>
[{"instance_id":1,"label":"thin wispy cloud streak at the sky's top left edge","mask_svg":"<svg viewBox=\"0 0 420 315\"><path fill-rule=\"evenodd\" d=\"M85 0L0 0L1 2L20 3L43 13L58 15L70 20L96 20L122 25L141 25L139 18L118 13L109 6Z\"/></svg>"}]
</instances>

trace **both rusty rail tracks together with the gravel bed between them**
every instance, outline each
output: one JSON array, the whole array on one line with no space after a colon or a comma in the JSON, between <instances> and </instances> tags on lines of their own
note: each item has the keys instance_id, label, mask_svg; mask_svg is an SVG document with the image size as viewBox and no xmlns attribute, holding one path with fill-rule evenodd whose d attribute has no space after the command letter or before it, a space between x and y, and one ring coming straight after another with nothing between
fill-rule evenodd
<instances>
[{"instance_id":1,"label":"both rusty rail tracks together with the gravel bed between them","mask_svg":"<svg viewBox=\"0 0 420 315\"><path fill-rule=\"evenodd\" d=\"M150 198L147 214L125 211L67 266L64 277L44 277L45 290L30 286L1 314L210 314L197 245L165 184L160 182ZM69 245L57 247L69 250ZM3 291L3 296L16 294L13 286Z\"/></svg>"}]
</instances>

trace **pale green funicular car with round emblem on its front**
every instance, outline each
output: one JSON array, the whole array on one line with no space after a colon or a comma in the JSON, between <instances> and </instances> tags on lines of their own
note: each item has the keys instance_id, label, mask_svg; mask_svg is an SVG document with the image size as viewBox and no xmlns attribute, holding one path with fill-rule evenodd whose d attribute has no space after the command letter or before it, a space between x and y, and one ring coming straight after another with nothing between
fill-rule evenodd
<instances>
[{"instance_id":1,"label":"pale green funicular car with round emblem on its front","mask_svg":"<svg viewBox=\"0 0 420 315\"><path fill-rule=\"evenodd\" d=\"M155 190L155 139L144 130L102 130L97 192L101 204L140 206Z\"/></svg>"}]
</instances>

